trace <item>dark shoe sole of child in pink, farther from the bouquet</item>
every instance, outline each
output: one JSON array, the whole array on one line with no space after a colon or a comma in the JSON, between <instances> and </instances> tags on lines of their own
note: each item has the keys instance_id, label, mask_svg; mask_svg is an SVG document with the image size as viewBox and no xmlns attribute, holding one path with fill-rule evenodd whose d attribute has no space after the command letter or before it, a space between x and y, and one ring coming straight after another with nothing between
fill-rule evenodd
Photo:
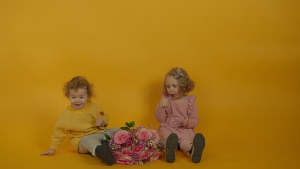
<instances>
[{"instance_id":1,"label":"dark shoe sole of child in pink, farther from the bouquet","mask_svg":"<svg viewBox=\"0 0 300 169\"><path fill-rule=\"evenodd\" d=\"M190 155L192 162L199 163L201 161L204 147L205 147L204 136L200 133L197 133L194 137L193 146Z\"/></svg>"}]
</instances>

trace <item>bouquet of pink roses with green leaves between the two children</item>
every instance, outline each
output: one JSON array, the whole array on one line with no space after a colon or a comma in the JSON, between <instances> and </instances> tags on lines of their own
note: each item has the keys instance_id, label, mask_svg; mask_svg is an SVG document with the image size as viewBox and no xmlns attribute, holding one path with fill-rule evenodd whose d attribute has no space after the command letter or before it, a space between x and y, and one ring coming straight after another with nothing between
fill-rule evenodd
<instances>
[{"instance_id":1,"label":"bouquet of pink roses with green leaves between the two children","mask_svg":"<svg viewBox=\"0 0 300 169\"><path fill-rule=\"evenodd\" d=\"M163 141L156 130L135 127L134 121L126 122L120 131L105 135L118 164L146 164L157 160L164 151ZM111 139L112 138L112 139Z\"/></svg>"}]
</instances>

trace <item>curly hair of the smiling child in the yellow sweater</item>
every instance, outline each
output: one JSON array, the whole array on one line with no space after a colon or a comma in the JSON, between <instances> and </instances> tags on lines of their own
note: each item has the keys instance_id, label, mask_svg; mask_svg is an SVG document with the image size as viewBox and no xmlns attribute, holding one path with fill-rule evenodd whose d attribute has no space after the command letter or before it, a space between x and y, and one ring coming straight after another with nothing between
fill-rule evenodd
<instances>
[{"instance_id":1,"label":"curly hair of the smiling child in the yellow sweater","mask_svg":"<svg viewBox=\"0 0 300 169\"><path fill-rule=\"evenodd\" d=\"M63 86L64 95L69 98L69 91L77 91L79 88L85 88L88 98L94 97L94 84L89 83L83 76L75 76Z\"/></svg>"}]
</instances>

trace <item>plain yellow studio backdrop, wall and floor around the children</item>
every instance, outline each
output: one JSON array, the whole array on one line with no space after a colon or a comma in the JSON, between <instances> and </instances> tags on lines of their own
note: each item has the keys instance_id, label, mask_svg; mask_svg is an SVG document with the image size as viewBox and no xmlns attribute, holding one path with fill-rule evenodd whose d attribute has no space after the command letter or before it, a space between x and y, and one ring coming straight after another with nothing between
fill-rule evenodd
<instances>
[{"instance_id":1,"label":"plain yellow studio backdrop, wall and floor around the children","mask_svg":"<svg viewBox=\"0 0 300 169\"><path fill-rule=\"evenodd\" d=\"M130 168L298 169L299 11L299 0L1 0L1 168L107 167L67 142L39 156L69 104L64 82L94 83L109 127L157 129L178 66L196 82L203 158Z\"/></svg>"}]
</instances>

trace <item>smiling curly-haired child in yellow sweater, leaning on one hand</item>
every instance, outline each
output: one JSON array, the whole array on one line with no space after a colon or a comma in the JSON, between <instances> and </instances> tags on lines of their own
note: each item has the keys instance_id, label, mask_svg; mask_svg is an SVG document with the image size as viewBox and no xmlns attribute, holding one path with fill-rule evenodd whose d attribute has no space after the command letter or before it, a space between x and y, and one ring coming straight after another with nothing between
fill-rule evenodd
<instances>
[{"instance_id":1,"label":"smiling curly-haired child in yellow sweater, leaning on one hand","mask_svg":"<svg viewBox=\"0 0 300 169\"><path fill-rule=\"evenodd\" d=\"M64 85L63 90L71 105L62 112L56 122L50 149L40 155L54 154L69 132L70 144L78 153L91 153L103 159L108 165L113 165L115 158L111 148L102 140L105 139L104 134L118 131L119 128L106 128L109 121L108 115L90 100L94 96L93 84L90 84L84 77L76 76Z\"/></svg>"}]
</instances>

